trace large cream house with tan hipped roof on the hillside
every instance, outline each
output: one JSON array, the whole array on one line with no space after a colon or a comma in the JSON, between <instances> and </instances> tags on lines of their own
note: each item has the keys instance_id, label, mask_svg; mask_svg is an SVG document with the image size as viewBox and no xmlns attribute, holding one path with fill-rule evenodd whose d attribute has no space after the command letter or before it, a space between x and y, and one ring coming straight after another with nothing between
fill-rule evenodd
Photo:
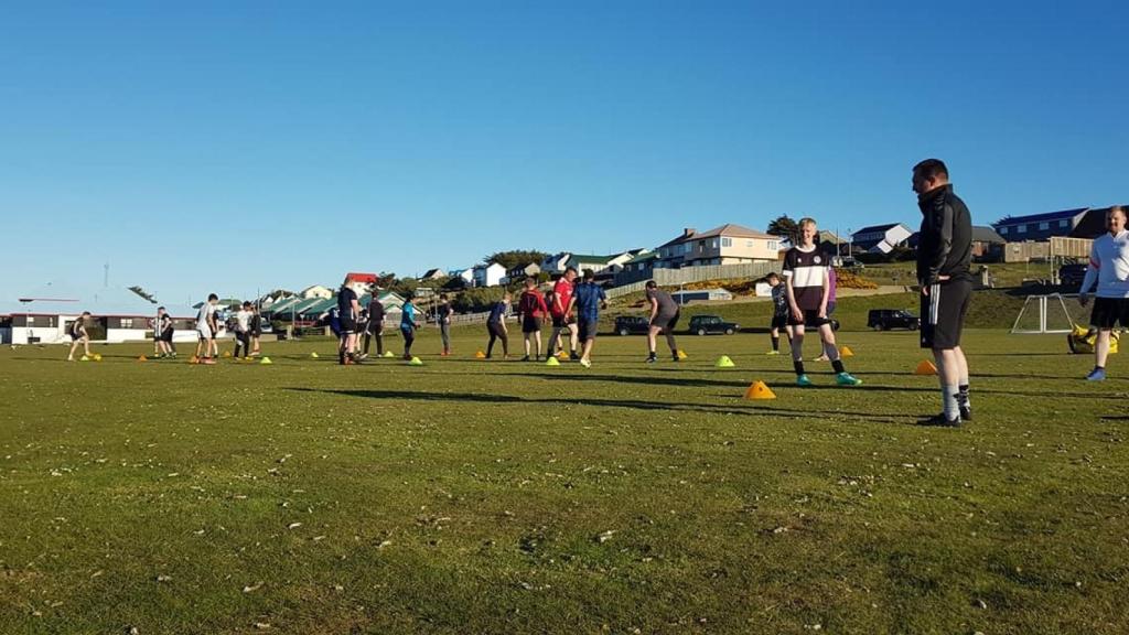
<instances>
[{"instance_id":1,"label":"large cream house with tan hipped roof on the hillside","mask_svg":"<svg viewBox=\"0 0 1129 635\"><path fill-rule=\"evenodd\" d=\"M658 247L655 269L715 264L741 264L777 259L780 237L741 225L727 224L708 232L692 227Z\"/></svg>"}]
</instances>

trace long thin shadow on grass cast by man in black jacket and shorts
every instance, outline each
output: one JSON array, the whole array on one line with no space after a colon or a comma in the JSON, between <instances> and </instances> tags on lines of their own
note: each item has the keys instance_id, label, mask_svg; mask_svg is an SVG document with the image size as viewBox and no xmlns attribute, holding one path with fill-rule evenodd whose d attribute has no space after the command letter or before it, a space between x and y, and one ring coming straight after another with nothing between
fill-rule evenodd
<instances>
[{"instance_id":1,"label":"long thin shadow on grass cast by man in black jacket and shorts","mask_svg":"<svg viewBox=\"0 0 1129 635\"><path fill-rule=\"evenodd\" d=\"M668 401L641 401L638 399L564 399L552 397L516 397L511 394L482 394L467 392L411 392L403 390L331 390L313 388L288 388L286 390L295 392L320 392L325 394L340 394L344 397L359 397L366 399L403 399L410 401L469 401L473 403L492 405L523 405L541 403L557 406L599 406L604 408L628 408L633 410L660 410L671 412L703 412L708 415L744 415L750 417L786 417L791 419L821 419L826 417L857 417L867 420L878 420L884 423L902 421L907 418L916 418L909 415L902 416L875 416L873 412L852 412L840 410L814 410L809 408L788 409L774 408L771 406L753 405L711 405L711 403L683 403Z\"/></svg>"}]
</instances>

